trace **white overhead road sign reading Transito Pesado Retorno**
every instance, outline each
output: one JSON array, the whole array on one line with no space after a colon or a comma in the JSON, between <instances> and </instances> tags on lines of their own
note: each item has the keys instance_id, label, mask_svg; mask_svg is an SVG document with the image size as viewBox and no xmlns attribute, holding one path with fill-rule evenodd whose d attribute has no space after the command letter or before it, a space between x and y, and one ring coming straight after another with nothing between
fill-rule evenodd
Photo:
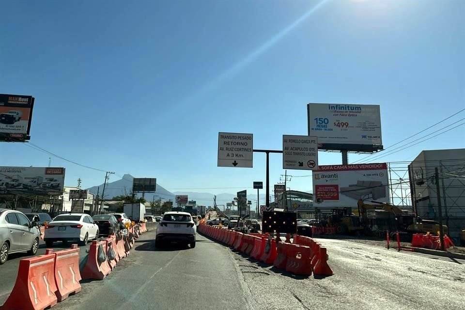
<instances>
[{"instance_id":1,"label":"white overhead road sign reading Transito Pesado Retorno","mask_svg":"<svg viewBox=\"0 0 465 310\"><path fill-rule=\"evenodd\" d=\"M218 133L218 167L252 168L253 134Z\"/></svg>"}]
</instances>

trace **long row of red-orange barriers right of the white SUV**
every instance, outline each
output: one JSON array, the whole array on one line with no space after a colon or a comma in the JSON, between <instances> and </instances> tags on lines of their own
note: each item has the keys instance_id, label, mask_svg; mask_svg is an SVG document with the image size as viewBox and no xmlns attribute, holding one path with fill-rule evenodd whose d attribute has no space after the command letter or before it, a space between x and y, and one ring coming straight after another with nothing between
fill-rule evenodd
<instances>
[{"instance_id":1,"label":"long row of red-orange barriers right of the white SUV","mask_svg":"<svg viewBox=\"0 0 465 310\"><path fill-rule=\"evenodd\" d=\"M269 234L239 233L204 224L199 233L267 264L296 275L331 276L326 248L309 237L294 235L294 243L276 241Z\"/></svg>"}]
</instances>

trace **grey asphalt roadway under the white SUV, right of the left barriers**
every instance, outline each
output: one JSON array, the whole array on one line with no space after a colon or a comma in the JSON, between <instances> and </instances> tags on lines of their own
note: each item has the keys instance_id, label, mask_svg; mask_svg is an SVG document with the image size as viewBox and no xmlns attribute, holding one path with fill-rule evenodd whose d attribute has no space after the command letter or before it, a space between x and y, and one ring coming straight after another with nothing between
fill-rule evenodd
<instances>
[{"instance_id":1,"label":"grey asphalt roadway under the white SUV, right of the left barriers","mask_svg":"<svg viewBox=\"0 0 465 310\"><path fill-rule=\"evenodd\" d=\"M200 235L193 249L157 249L154 237L142 234L106 279L83 282L53 309L465 309L465 261L318 239L334 275L305 278Z\"/></svg>"}]
</instances>

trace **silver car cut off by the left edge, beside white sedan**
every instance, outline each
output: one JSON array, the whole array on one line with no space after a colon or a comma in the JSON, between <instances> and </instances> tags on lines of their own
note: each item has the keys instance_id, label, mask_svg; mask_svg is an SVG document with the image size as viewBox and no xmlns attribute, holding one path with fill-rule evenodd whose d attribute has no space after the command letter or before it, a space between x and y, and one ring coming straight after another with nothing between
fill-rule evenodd
<instances>
[{"instance_id":1,"label":"silver car cut off by the left edge, beside white sedan","mask_svg":"<svg viewBox=\"0 0 465 310\"><path fill-rule=\"evenodd\" d=\"M39 230L24 213L0 209L0 265L8 259L8 254L27 251L35 255L39 248Z\"/></svg>"}]
</instances>

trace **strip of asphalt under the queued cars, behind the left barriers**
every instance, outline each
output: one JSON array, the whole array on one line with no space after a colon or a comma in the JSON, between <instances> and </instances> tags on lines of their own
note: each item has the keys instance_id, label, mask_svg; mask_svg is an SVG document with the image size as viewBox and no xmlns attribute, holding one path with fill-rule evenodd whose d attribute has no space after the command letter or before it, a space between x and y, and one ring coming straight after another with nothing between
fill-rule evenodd
<instances>
[{"instance_id":1,"label":"strip of asphalt under the queued cars, behind the left barriers","mask_svg":"<svg viewBox=\"0 0 465 310\"><path fill-rule=\"evenodd\" d=\"M86 257L86 248L89 248L90 242L86 247L78 246L79 248L79 261L82 261L84 257ZM54 251L60 251L62 249L71 248L71 242L67 244L63 244L62 242L55 242L54 243ZM45 254L46 245L45 242L41 241L39 243L39 249L36 255ZM23 258L32 257L28 255L26 252L24 253L15 253L8 255L8 260L6 263L0 266L0 305L6 300L8 295L10 294L13 286L15 286L16 282L16 275L18 273L19 261Z\"/></svg>"}]
</instances>

